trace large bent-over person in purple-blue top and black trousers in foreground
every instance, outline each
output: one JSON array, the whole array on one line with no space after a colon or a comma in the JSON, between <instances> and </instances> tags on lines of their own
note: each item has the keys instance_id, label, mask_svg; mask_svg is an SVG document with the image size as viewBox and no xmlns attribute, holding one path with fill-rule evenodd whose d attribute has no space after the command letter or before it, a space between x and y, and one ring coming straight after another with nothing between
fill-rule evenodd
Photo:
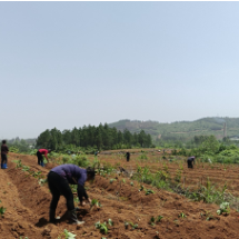
<instances>
[{"instance_id":1,"label":"large bent-over person in purple-blue top and black trousers in foreground","mask_svg":"<svg viewBox=\"0 0 239 239\"><path fill-rule=\"evenodd\" d=\"M83 221L78 221L77 219L77 212L73 205L73 193L69 185L78 185L77 192L81 206L83 205L83 198L88 202L91 202L83 186L86 181L93 180L94 175L94 169L82 169L76 165L61 165L51 169L48 173L48 185L52 195L50 205L50 222L56 222L57 220L56 209L60 196L62 195L67 200L69 222L73 225L83 223Z\"/></svg>"}]
</instances>

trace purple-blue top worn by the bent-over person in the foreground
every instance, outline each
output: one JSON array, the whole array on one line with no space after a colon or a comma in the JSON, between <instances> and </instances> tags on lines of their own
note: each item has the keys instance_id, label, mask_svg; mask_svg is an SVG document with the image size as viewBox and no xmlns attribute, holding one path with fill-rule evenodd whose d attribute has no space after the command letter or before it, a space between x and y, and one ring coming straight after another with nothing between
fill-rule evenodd
<instances>
[{"instance_id":1,"label":"purple-blue top worn by the bent-over person in the foreground","mask_svg":"<svg viewBox=\"0 0 239 239\"><path fill-rule=\"evenodd\" d=\"M51 169L52 172L57 172L60 177L68 180L70 185L84 186L87 181L87 170L81 169L76 165L61 165Z\"/></svg>"}]
</instances>

